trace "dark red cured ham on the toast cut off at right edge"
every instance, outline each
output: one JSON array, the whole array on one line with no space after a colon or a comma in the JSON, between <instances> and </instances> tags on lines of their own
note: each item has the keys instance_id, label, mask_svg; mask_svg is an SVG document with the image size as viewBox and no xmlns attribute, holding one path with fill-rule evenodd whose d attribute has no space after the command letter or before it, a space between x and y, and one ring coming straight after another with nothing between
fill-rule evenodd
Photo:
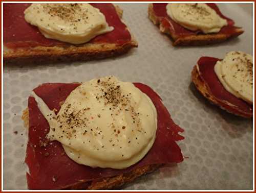
<instances>
[{"instance_id":1,"label":"dark red cured ham on the toast cut off at right edge","mask_svg":"<svg viewBox=\"0 0 256 193\"><path fill-rule=\"evenodd\" d=\"M197 63L201 79L206 83L211 94L215 96L221 106L234 114L251 117L252 105L228 92L219 81L214 70L214 66L219 60L218 58L211 57L201 57L198 60Z\"/></svg>"}]
</instances>

